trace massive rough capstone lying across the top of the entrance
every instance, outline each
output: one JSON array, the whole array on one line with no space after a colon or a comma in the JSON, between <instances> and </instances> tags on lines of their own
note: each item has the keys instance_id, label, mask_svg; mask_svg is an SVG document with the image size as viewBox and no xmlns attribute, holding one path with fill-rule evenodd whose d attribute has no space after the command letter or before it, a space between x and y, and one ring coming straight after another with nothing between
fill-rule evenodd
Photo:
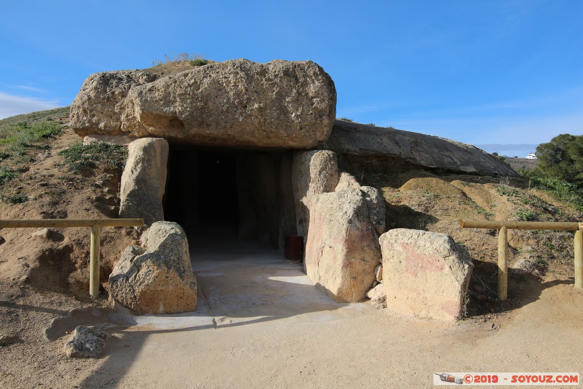
<instances>
[{"instance_id":1,"label":"massive rough capstone lying across the top of the entrance","mask_svg":"<svg viewBox=\"0 0 583 389\"><path fill-rule=\"evenodd\" d=\"M214 62L172 75L90 75L71 105L81 135L124 133L237 148L309 149L330 134L336 89L311 61Z\"/></svg>"}]
</instances>

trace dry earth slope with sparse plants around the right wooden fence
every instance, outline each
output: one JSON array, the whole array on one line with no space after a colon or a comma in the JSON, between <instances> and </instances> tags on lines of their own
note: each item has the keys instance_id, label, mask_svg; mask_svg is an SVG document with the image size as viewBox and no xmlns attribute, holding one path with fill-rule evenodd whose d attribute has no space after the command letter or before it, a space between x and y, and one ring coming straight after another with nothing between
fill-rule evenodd
<instances>
[{"instance_id":1,"label":"dry earth slope with sparse plants around the right wooden fence","mask_svg":"<svg viewBox=\"0 0 583 389\"><path fill-rule=\"evenodd\" d=\"M475 264L468 317L519 306L524 303L521 300L530 298L534 284L557 280L573 282L574 232L511 230L508 234L509 267L529 260L534 262L535 268L530 272L511 269L509 300L499 302L493 293L497 290L497 230L459 227L460 220L583 220L581 209L564 204L549 192L529 187L529 181L524 178L437 176L423 170L392 175L365 174L363 178L363 184L382 190L389 228L447 233L468 250Z\"/></svg>"}]
</instances>

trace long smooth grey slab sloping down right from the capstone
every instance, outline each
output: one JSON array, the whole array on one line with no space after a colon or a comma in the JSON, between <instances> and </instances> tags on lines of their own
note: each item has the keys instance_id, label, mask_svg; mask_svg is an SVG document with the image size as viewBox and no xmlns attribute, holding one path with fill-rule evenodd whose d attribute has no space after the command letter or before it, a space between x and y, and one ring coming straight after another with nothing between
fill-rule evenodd
<instances>
[{"instance_id":1,"label":"long smooth grey slab sloping down right from the capstone","mask_svg":"<svg viewBox=\"0 0 583 389\"><path fill-rule=\"evenodd\" d=\"M343 120L335 121L330 138L320 148L344 155L395 157L420 166L484 176L518 176L503 161L472 145Z\"/></svg>"}]
</instances>

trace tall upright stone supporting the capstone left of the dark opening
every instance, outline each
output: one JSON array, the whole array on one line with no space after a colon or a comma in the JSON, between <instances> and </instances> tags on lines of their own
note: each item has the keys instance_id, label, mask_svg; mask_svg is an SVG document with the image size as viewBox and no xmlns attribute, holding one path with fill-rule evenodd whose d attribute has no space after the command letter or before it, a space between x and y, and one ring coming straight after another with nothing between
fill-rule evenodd
<instances>
[{"instance_id":1,"label":"tall upright stone supporting the capstone left of the dark opening","mask_svg":"<svg viewBox=\"0 0 583 389\"><path fill-rule=\"evenodd\" d=\"M143 138L129 143L121 176L120 218L143 218L147 225L164 220L167 163L166 139Z\"/></svg>"}]
</instances>

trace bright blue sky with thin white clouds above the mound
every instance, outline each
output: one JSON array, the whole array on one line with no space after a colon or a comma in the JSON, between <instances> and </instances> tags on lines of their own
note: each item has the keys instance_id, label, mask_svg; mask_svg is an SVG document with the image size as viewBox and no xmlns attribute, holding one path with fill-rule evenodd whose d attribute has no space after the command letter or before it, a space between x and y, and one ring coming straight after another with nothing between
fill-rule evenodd
<instances>
[{"instance_id":1,"label":"bright blue sky with thin white clouds above the mound","mask_svg":"<svg viewBox=\"0 0 583 389\"><path fill-rule=\"evenodd\" d=\"M583 1L20 1L2 5L0 117L173 52L311 59L337 117L484 144L583 133ZM493 150L489 150L490 152Z\"/></svg>"}]
</instances>

